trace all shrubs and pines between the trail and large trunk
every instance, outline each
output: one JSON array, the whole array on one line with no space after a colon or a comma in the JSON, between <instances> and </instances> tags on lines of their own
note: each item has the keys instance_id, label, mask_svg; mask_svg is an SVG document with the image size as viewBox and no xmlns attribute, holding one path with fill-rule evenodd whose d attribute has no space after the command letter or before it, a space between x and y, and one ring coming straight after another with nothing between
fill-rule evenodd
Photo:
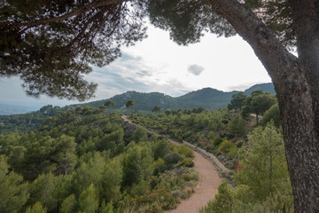
<instances>
[{"instance_id":1,"label":"all shrubs and pines between the trail and large trunk","mask_svg":"<svg viewBox=\"0 0 319 213\"><path fill-rule=\"evenodd\" d=\"M203 147L236 171L201 212L293 212L278 105L262 91L243 95L233 96L230 109L206 111L199 107L132 114L131 119L159 134ZM263 115L257 127L256 116L249 115L256 109Z\"/></svg>"}]
</instances>

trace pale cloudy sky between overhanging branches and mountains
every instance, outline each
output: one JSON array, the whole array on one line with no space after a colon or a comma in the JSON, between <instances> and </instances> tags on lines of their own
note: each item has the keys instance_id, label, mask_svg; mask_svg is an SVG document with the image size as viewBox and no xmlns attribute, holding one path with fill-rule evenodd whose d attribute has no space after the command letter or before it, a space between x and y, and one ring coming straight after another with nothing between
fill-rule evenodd
<instances>
[{"instance_id":1,"label":"pale cloudy sky between overhanging branches and mountains","mask_svg":"<svg viewBox=\"0 0 319 213\"><path fill-rule=\"evenodd\" d=\"M123 47L121 58L107 67L94 67L86 79L98 83L96 98L108 99L126 91L159 91L172 97L211 87L241 91L270 78L251 47L239 36L207 34L200 43L179 46L169 34L149 27L148 38ZM0 79L0 102L8 105L65 106L67 100L29 98L19 78Z\"/></svg>"}]
</instances>

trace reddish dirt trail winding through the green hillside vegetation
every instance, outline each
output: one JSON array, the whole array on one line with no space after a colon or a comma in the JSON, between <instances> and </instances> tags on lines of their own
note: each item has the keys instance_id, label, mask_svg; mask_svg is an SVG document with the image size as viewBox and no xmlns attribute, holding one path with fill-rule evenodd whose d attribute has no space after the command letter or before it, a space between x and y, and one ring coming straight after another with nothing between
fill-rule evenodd
<instances>
[{"instance_id":1,"label":"reddish dirt trail winding through the green hillside vegetation","mask_svg":"<svg viewBox=\"0 0 319 213\"><path fill-rule=\"evenodd\" d=\"M123 115L122 118L130 123L127 116ZM135 123L133 123L135 124ZM152 134L158 135L152 130L148 130ZM171 143L180 145L174 140L167 138ZM198 152L194 152L194 168L198 172L199 180L196 186L195 193L190 198L182 200L176 209L166 211L166 213L197 213L201 207L206 206L207 202L214 199L214 195L218 193L218 185L222 183L222 177L219 177L218 171L214 168L212 162L209 162L205 157Z\"/></svg>"}]
</instances>

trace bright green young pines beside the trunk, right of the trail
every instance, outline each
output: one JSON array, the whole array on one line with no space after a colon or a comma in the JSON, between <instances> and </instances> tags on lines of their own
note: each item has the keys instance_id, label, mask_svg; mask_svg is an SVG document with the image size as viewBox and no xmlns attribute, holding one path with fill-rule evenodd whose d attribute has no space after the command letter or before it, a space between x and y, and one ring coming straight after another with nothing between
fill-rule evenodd
<instances>
[{"instance_id":1,"label":"bright green young pines beside the trunk, right of the trail","mask_svg":"<svg viewBox=\"0 0 319 213\"><path fill-rule=\"evenodd\" d=\"M219 185L203 213L292 213L292 185L284 155L284 139L273 124L258 127L238 152L235 182Z\"/></svg>"}]
</instances>

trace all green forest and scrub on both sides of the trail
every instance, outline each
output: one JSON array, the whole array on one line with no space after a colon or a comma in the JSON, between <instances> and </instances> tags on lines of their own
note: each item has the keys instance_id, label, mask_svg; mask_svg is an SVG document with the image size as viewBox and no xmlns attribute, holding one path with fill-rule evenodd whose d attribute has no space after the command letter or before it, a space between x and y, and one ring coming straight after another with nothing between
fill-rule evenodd
<instances>
[{"instance_id":1,"label":"all green forest and scrub on both sides of the trail","mask_svg":"<svg viewBox=\"0 0 319 213\"><path fill-rule=\"evenodd\" d=\"M220 172L225 181L201 212L293 212L275 96L238 92L215 111L153 109L130 114L135 125L105 106L47 106L40 111L51 116L37 130L8 129L0 135L0 212L175 209L198 174L193 150L166 138L201 147L231 170Z\"/></svg>"}]
</instances>

